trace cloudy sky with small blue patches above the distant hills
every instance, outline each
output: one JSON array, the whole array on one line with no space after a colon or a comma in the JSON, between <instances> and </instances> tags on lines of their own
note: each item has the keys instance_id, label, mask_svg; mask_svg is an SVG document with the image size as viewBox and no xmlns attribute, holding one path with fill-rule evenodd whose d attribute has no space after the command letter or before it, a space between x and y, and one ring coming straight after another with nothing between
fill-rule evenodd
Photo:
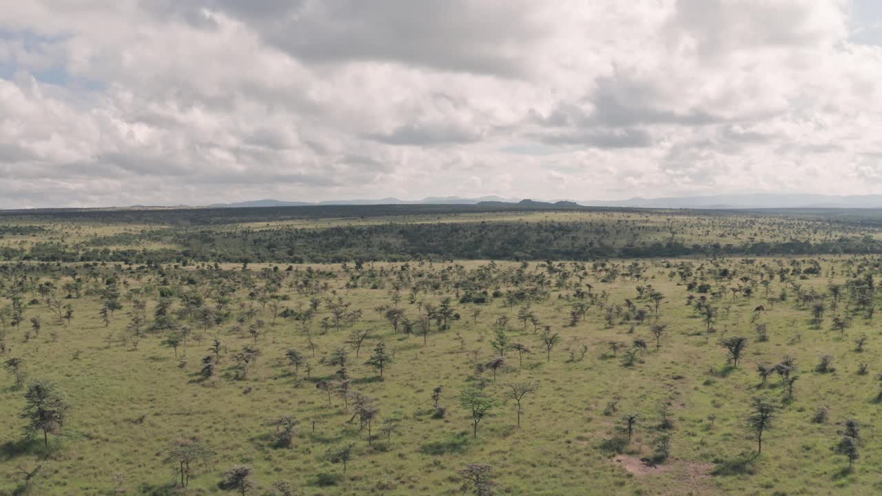
<instances>
[{"instance_id":1,"label":"cloudy sky with small blue patches above the distant hills","mask_svg":"<svg viewBox=\"0 0 882 496\"><path fill-rule=\"evenodd\" d=\"M882 193L879 0L0 12L0 208Z\"/></svg>"}]
</instances>

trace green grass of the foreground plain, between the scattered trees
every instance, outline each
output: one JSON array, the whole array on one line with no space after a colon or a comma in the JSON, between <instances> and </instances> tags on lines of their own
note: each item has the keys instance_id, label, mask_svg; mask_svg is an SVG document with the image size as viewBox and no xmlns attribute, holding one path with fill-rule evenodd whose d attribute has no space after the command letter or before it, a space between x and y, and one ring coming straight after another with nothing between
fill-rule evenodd
<instances>
[{"instance_id":1,"label":"green grass of the foreground plain, between the scattered trees","mask_svg":"<svg viewBox=\"0 0 882 496\"><path fill-rule=\"evenodd\" d=\"M23 438L24 421L19 412L25 404L24 391L13 387L11 374L0 373L0 494L15 493L23 482L21 470L33 470L39 464L43 467L35 478L34 494L109 494L117 485L126 494L174 493L175 467L163 462L162 452L180 438L198 438L215 453L210 461L194 467L185 492L189 494L221 493L221 475L236 463L254 469L259 489L252 494L270 491L280 480L292 483L303 494L456 494L461 485L458 473L470 462L490 464L498 492L507 494L876 494L882 491L876 477L882 447L874 442L880 408L874 398L882 386L877 380L882 372L878 369L882 363L878 326L855 316L841 339L830 329L834 312L831 299L826 297L826 316L820 327L814 328L810 324L811 305L796 308L793 283L826 295L829 282L845 282L863 272L877 273L878 258L827 257L819 259L820 274L791 275L787 282L775 277L769 294L787 289L791 297L774 308L766 302L766 289L759 285L750 299L738 296L733 300L727 293L714 302L719 308L714 334L705 333L705 323L695 308L686 304L690 294L700 295L688 291L684 282L707 282L714 290L721 285L735 287L742 283L742 276L759 282L759 272L766 272L764 266L790 267L791 262L802 260L642 260L639 280L622 275L610 280L606 270L610 265L593 267L591 263L556 264L569 274L562 279L560 272L548 274L544 264L533 262L526 269L528 277L519 279L516 263L488 268L488 262L475 260L411 262L407 274L412 280L404 285L399 303L407 315L415 319L420 312L417 304L407 301L414 282L422 284L419 301L438 304L444 297L453 297L461 315L449 330L438 331L433 325L426 345L422 336L393 334L392 326L374 311L377 305L391 304L392 284L404 274L400 264L366 264L360 274L351 266L344 271L339 264L309 266L333 274L320 279L327 288L317 294L298 291L296 283L289 285L303 281L307 266L295 267L296 272L280 267L284 279L275 295L280 308L305 308L310 297L341 297L350 310L363 312L355 328L372 332L360 357L356 359L350 352L351 388L376 399L379 420L375 433L384 417L396 416L403 421L399 434L391 440L374 440L371 445L366 433L359 432L357 420L348 423L352 412L344 411L340 397L334 395L329 407L325 393L315 387L318 380L332 379L335 371L333 366L320 364L320 357L343 346L351 330L332 327L328 334L318 335L319 321L329 315L324 301L311 324L317 334L315 358L310 357L299 323L279 318L270 325L269 310L261 311L261 305L253 303L258 310L256 319L267 322L257 343L263 354L246 380L231 379L232 354L253 344L246 332L232 331L235 317L251 304L250 289L245 286L250 281L255 288L263 287L261 269L271 266L252 265L246 276L228 264L221 268L229 272L217 278L217 274L198 267L138 269L76 264L40 268L5 264L0 273L4 295L11 294L22 274L33 277L22 293L25 302L41 300L34 292L39 282L53 281L59 288L70 282L72 272L63 274L64 270L75 271L85 284L79 298L64 299L64 294L56 291L63 303L75 307L69 327L56 322L42 301L27 305L20 329L10 328L7 319L7 351L0 358L23 358L27 380L54 380L72 409L64 435L51 438L47 453L41 443ZM624 274L632 261L610 263L617 264ZM693 275L683 279L676 275L679 264L689 264ZM729 268L735 276L714 280L710 274L713 267ZM100 291L106 286L102 278L110 274L116 275L123 294L123 310L104 327L99 317ZM349 287L354 275L358 276L357 288ZM148 335L137 349L131 339L123 342L123 337L130 335L125 330L132 306L125 297L129 291L134 291L134 297L146 298L147 314L152 316L157 288L168 283L180 292L188 288L184 286L188 278L196 282L190 289L206 294L213 288L210 281L235 282L231 319L206 333L198 323L182 319L182 324L193 327L193 335L186 347L178 350L177 358L172 349L160 345L162 334ZM522 280L530 282L519 282ZM542 324L563 338L551 351L549 362L533 326L527 325L525 330L517 320L522 305L507 307L504 297L490 298L489 304L480 305L482 315L474 324L471 310L476 305L456 301L458 292L463 294L465 287L479 281L492 293L495 288L505 292L531 287L541 280L546 282L543 286L548 297L531 308ZM594 294L608 295L607 306L624 306L630 299L638 308L651 307L650 300L638 298L636 286L651 284L661 291L665 300L658 320L669 325L661 349L654 349L649 333L654 310L642 324L616 319L609 327L603 305L595 304L585 320L569 326L572 294L576 289L587 290L588 284ZM377 287L371 289L374 285ZM846 312L846 300L843 297L840 303L841 314ZM0 297L0 307L9 301ZM755 322L766 323L767 342L757 341L753 330L754 308L759 304L766 304L767 310ZM180 307L175 298L173 308ZM30 328L27 319L37 315L43 321L40 335L25 342ZM475 372L475 364L493 357L490 341L494 322L501 315L509 318L506 333L514 342L527 344L533 353L525 356L519 367L517 354L509 352L495 382L491 372L484 372L490 379L486 390L502 400L507 382L534 380L540 388L525 398L520 428L515 425L514 403L505 402L482 421L473 440L471 419L457 396ZM243 325L247 327L247 323ZM50 337L53 330L58 333L56 340ZM861 334L869 339L864 351L858 353L854 339ZM215 335L228 353L221 356L213 379L199 380L200 359L208 354ZM737 368L727 364L725 349L719 344L723 337L733 335L751 339ZM649 343L649 350L633 366L623 364L621 351L612 356L608 342L630 344L638 337ZM364 364L378 341L386 342L395 353L384 380L377 380L376 372ZM582 344L589 350L580 360ZM288 348L300 349L309 357L314 367L309 380L303 369L295 378L284 357ZM575 352L574 361L568 349ZM835 372L814 372L819 357L826 354L833 355ZM764 437L762 455L755 456L756 443L745 427L750 399L755 395L782 397L775 375L766 387L758 387L756 364L775 364L785 355L796 359L795 374L800 379L795 398L774 419L774 428ZM856 373L861 362L870 364L866 375ZM438 386L443 387L440 404L446 408L444 418L433 417L431 394ZM606 415L609 402L617 402L617 412ZM633 458L653 454L662 402L670 404L673 422L671 457L658 470L632 474L615 456L618 451ZM829 410L826 424L812 422L820 407ZM640 417L632 442L623 444L617 440L617 425L627 412L639 412ZM283 415L300 421L300 431L289 448L273 447L273 427L268 425ZM710 415L716 416L713 427ZM864 435L861 459L850 472L844 470L848 462L833 450L847 418L856 418ZM348 443L354 443L355 450L343 475L342 465L329 462L325 453Z\"/></svg>"}]
</instances>

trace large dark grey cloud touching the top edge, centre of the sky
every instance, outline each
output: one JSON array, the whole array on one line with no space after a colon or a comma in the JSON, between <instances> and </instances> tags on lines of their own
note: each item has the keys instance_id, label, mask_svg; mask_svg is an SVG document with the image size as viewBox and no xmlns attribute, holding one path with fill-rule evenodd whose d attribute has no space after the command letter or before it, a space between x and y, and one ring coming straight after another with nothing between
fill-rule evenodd
<instances>
[{"instance_id":1,"label":"large dark grey cloud touching the top edge, centre of the sky","mask_svg":"<svg viewBox=\"0 0 882 496\"><path fill-rule=\"evenodd\" d=\"M214 2L297 58L399 62L442 71L513 76L521 49L544 34L511 0L302 0Z\"/></svg>"}]
</instances>

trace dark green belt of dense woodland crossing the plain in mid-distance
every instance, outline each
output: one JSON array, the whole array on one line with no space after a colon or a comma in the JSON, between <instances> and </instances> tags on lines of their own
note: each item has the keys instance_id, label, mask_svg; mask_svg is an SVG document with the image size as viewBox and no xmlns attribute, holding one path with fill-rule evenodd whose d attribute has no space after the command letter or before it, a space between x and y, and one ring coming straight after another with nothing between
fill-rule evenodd
<instances>
[{"instance_id":1,"label":"dark green belt of dense woodland crossing the plain in mid-distance","mask_svg":"<svg viewBox=\"0 0 882 496\"><path fill-rule=\"evenodd\" d=\"M327 229L158 229L98 237L85 245L38 243L0 248L0 259L45 261L342 262L412 259L572 259L730 255L882 253L882 241L848 236L810 242L742 244L628 242L603 222L442 222L343 226ZM639 229L639 228L633 228ZM176 248L118 246L158 243ZM110 246L116 246L111 248Z\"/></svg>"}]
</instances>

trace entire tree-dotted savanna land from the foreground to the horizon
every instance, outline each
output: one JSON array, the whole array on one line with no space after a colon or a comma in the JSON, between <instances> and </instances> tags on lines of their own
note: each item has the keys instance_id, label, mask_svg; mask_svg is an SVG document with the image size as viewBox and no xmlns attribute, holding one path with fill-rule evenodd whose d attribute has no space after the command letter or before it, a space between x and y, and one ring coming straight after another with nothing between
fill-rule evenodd
<instances>
[{"instance_id":1,"label":"entire tree-dotted savanna land from the foreground to the horizon","mask_svg":"<svg viewBox=\"0 0 882 496\"><path fill-rule=\"evenodd\" d=\"M877 494L880 218L4 214L0 494Z\"/></svg>"}]
</instances>

